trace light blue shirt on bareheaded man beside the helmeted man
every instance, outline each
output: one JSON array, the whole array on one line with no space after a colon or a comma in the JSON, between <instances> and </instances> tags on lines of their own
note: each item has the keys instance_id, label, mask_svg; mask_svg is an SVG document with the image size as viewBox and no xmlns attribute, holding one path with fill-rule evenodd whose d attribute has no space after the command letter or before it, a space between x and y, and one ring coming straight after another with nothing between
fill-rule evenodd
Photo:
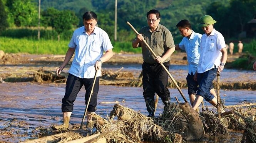
<instances>
[{"instance_id":1,"label":"light blue shirt on bareheaded man beside the helmeted man","mask_svg":"<svg viewBox=\"0 0 256 143\"><path fill-rule=\"evenodd\" d=\"M179 43L179 48L186 50L187 62L189 65L188 73L191 75L196 73L200 52L199 47L201 43L202 34L195 33L192 31L190 38L183 37L182 41Z\"/></svg>"}]
</instances>

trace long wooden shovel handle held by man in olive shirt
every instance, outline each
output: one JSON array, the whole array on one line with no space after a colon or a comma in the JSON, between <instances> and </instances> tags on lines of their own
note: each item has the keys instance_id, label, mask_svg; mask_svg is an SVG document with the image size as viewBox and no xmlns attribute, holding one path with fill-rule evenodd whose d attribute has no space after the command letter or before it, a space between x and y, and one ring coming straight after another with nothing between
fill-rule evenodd
<instances>
[{"instance_id":1,"label":"long wooden shovel handle held by man in olive shirt","mask_svg":"<svg viewBox=\"0 0 256 143\"><path fill-rule=\"evenodd\" d=\"M127 21L127 24L133 29L133 31L136 33L136 34L139 34L137 32L137 30ZM142 41L146 44L147 48L150 50L150 52L154 55L154 57L156 58L156 54L154 53L154 51L151 49L151 47L149 46L149 44L147 44L146 40L145 39L142 39ZM187 99L185 98L185 96L183 95L181 89L179 88L177 82L174 80L174 78L172 77L171 73L166 69L166 67L164 67L164 64L162 62L160 62L160 64L162 65L162 67L164 68L164 70L167 72L167 74L170 76L172 82L174 83L174 85L176 86L176 88L178 89L179 93L181 94L182 98L184 99L184 101L186 103L187 102Z\"/></svg>"}]
</instances>

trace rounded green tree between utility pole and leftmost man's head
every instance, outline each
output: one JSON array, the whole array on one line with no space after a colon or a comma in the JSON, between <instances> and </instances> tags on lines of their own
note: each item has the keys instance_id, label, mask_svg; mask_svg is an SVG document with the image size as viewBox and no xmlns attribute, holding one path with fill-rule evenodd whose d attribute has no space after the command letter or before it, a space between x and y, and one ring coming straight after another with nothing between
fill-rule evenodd
<instances>
[{"instance_id":1,"label":"rounded green tree between utility pole and leftmost man's head","mask_svg":"<svg viewBox=\"0 0 256 143\"><path fill-rule=\"evenodd\" d=\"M43 11L42 23L46 26L51 26L58 33L58 41L60 40L60 34L64 31L77 27L79 19L73 11L70 10L56 10L49 8Z\"/></svg>"}]
</instances>

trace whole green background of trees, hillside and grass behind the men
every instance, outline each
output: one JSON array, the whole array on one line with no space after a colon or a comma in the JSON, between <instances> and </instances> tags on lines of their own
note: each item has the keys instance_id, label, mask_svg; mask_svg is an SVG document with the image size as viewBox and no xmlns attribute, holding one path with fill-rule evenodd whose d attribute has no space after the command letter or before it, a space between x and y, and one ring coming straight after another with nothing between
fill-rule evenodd
<instances>
[{"instance_id":1,"label":"whole green background of trees, hillside and grass behind the men","mask_svg":"<svg viewBox=\"0 0 256 143\"><path fill-rule=\"evenodd\" d=\"M256 16L255 0L118 0L117 39L114 39L114 0L41 0L40 16L38 2L0 0L1 50L7 53L65 54L74 29L83 26L84 12L94 11L98 16L98 26L109 34L114 52L140 53L140 48L131 46L135 33L126 23L129 21L139 30L147 25L147 11L157 9L161 13L160 23L171 31L175 44L182 39L176 28L180 20L189 20L192 29L202 34L199 18L211 15L217 21L214 28L223 34L226 42L236 44L238 40L243 41L246 55L232 63L232 68L251 69L253 60L256 60L256 42L251 41L255 36L249 40L241 37L248 30L248 21ZM253 30L249 32L253 33Z\"/></svg>"}]
</instances>

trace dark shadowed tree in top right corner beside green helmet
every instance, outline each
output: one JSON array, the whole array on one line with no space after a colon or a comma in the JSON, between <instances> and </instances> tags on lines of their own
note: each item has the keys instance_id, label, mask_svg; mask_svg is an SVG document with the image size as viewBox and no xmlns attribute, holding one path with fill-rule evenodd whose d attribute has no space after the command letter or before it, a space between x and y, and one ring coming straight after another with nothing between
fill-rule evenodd
<instances>
[{"instance_id":1,"label":"dark shadowed tree in top right corner beside green helmet","mask_svg":"<svg viewBox=\"0 0 256 143\"><path fill-rule=\"evenodd\" d=\"M254 0L230 0L228 5L215 2L207 8L207 14L216 19L214 27L224 37L238 37L244 31L246 23L253 19L255 4Z\"/></svg>"}]
</instances>

